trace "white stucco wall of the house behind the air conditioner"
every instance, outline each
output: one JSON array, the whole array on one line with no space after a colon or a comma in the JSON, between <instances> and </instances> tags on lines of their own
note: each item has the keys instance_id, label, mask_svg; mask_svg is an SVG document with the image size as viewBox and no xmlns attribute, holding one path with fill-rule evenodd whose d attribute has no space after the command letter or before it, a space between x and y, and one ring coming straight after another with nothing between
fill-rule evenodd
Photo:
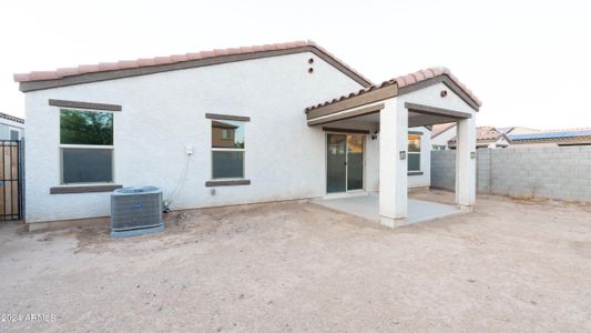
<instances>
[{"instance_id":1,"label":"white stucco wall of the house behind the air conditioner","mask_svg":"<svg viewBox=\"0 0 591 333\"><path fill-rule=\"evenodd\" d=\"M308 73L308 58L314 73ZM360 85L313 53L297 53L27 93L27 222L105 216L109 193L49 194L60 185L59 108L49 99L121 104L114 115L114 182L152 184L169 198L194 148L176 209L325 194L325 135L304 109ZM251 117L245 178L251 185L212 195L211 121L204 113ZM320 162L319 162L320 161Z\"/></svg>"}]
</instances>

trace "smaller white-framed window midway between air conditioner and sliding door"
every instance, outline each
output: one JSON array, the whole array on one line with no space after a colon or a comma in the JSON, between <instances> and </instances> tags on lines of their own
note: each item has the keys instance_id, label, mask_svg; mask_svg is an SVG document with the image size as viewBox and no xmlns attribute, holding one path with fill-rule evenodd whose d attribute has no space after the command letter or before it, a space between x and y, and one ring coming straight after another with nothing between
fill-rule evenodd
<instances>
[{"instance_id":1,"label":"smaller white-framed window midway between air conditioner and sliding door","mask_svg":"<svg viewBox=\"0 0 591 333\"><path fill-rule=\"evenodd\" d=\"M244 122L212 120L212 179L244 178Z\"/></svg>"}]
</instances>

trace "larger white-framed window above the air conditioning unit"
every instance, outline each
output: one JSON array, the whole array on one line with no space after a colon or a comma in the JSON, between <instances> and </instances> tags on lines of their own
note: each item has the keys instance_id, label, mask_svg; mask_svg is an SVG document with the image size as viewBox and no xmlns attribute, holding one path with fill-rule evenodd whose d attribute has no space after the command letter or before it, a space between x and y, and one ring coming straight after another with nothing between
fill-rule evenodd
<instances>
[{"instance_id":1,"label":"larger white-framed window above the air conditioning unit","mask_svg":"<svg viewBox=\"0 0 591 333\"><path fill-rule=\"evenodd\" d=\"M113 182L113 113L60 110L61 183Z\"/></svg>"}]
</instances>

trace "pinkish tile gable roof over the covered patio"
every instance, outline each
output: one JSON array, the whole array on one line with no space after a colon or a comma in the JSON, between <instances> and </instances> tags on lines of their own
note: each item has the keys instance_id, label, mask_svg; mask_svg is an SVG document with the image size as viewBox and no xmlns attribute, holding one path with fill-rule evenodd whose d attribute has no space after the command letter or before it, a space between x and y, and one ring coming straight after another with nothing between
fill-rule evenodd
<instances>
[{"instance_id":1,"label":"pinkish tile gable roof over the covered patio","mask_svg":"<svg viewBox=\"0 0 591 333\"><path fill-rule=\"evenodd\" d=\"M415 84L420 84L421 82L426 82L426 81L429 81L429 80L432 80L432 79L437 79L437 78L440 78L440 79L444 79L444 80L445 80L445 78L449 78L449 81L451 81L451 82L447 81L445 83L450 85L450 88L454 89L455 92L460 94L460 97L461 97L461 94L465 94L467 97L467 99L465 99L465 101L467 103L469 103L476 110L478 110L478 108L482 105L482 102L472 93L472 91L470 89L468 89L466 85L463 85L463 83L461 83L458 80L458 78L456 78L456 75L454 75L449 71L449 69L447 69L445 67L437 67L437 68L429 68L429 69L426 69L426 70L420 70L418 72L414 72L414 73L410 73L410 74L407 74L407 75L397 77L397 78L394 78L391 80L384 81L384 82L381 82L381 84L374 84L371 87L361 89L359 91L351 92L351 93L349 93L347 95L342 95L339 98L336 98L336 99L333 99L333 100L325 101L323 103L318 103L318 104L308 107L308 108L306 108L306 112L313 111L313 110L318 109L318 108L327 107L327 105L330 105L333 103L337 103L337 102L340 102L340 101L344 101L344 100L347 100L347 99L350 99L350 98L354 98L354 97L370 92L373 90L383 89L383 88L386 88L386 87L389 87L389 85L394 85L394 84L396 84L397 88L400 90L398 92L398 94L403 94L403 93L406 92L406 91L404 91L404 89L407 88L407 87L410 88L410 87L414 87ZM455 89L454 85L456 85L457 89ZM409 92L411 90L408 89L407 91Z\"/></svg>"}]
</instances>

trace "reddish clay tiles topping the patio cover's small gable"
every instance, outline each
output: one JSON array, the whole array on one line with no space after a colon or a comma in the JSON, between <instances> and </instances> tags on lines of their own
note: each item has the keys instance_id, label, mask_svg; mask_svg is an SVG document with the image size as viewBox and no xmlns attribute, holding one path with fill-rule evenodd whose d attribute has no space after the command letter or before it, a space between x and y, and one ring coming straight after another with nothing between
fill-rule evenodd
<instances>
[{"instance_id":1,"label":"reddish clay tiles topping the patio cover's small gable","mask_svg":"<svg viewBox=\"0 0 591 333\"><path fill-rule=\"evenodd\" d=\"M393 84L397 84L398 88L400 89L400 88L412 85L421 81L432 79L436 77L440 77L440 75L447 75L449 79L451 79L451 81L454 81L454 83L456 83L461 90L463 90L468 94L468 97L470 97L470 99L475 101L476 104L478 104L479 107L482 105L482 102L472 93L472 91L468 89L463 83L461 83L458 80L458 78L451 73L449 69L445 67L434 67L434 68L428 68L426 70L420 70L418 72L414 72L407 75L397 77L388 81L384 81L380 84L374 84L368 88L361 89L359 91L351 92L347 95L342 95L339 98L326 101L324 103L318 103L318 104L308 107L306 108L306 112L322 108L322 107L326 107L326 105L329 105L329 104L333 104L333 103L336 103L336 102L339 102L339 101L343 101L343 100L346 100L346 99L349 99L356 95L364 94L375 89L379 89L379 88L384 88L384 87L388 87Z\"/></svg>"}]
</instances>

